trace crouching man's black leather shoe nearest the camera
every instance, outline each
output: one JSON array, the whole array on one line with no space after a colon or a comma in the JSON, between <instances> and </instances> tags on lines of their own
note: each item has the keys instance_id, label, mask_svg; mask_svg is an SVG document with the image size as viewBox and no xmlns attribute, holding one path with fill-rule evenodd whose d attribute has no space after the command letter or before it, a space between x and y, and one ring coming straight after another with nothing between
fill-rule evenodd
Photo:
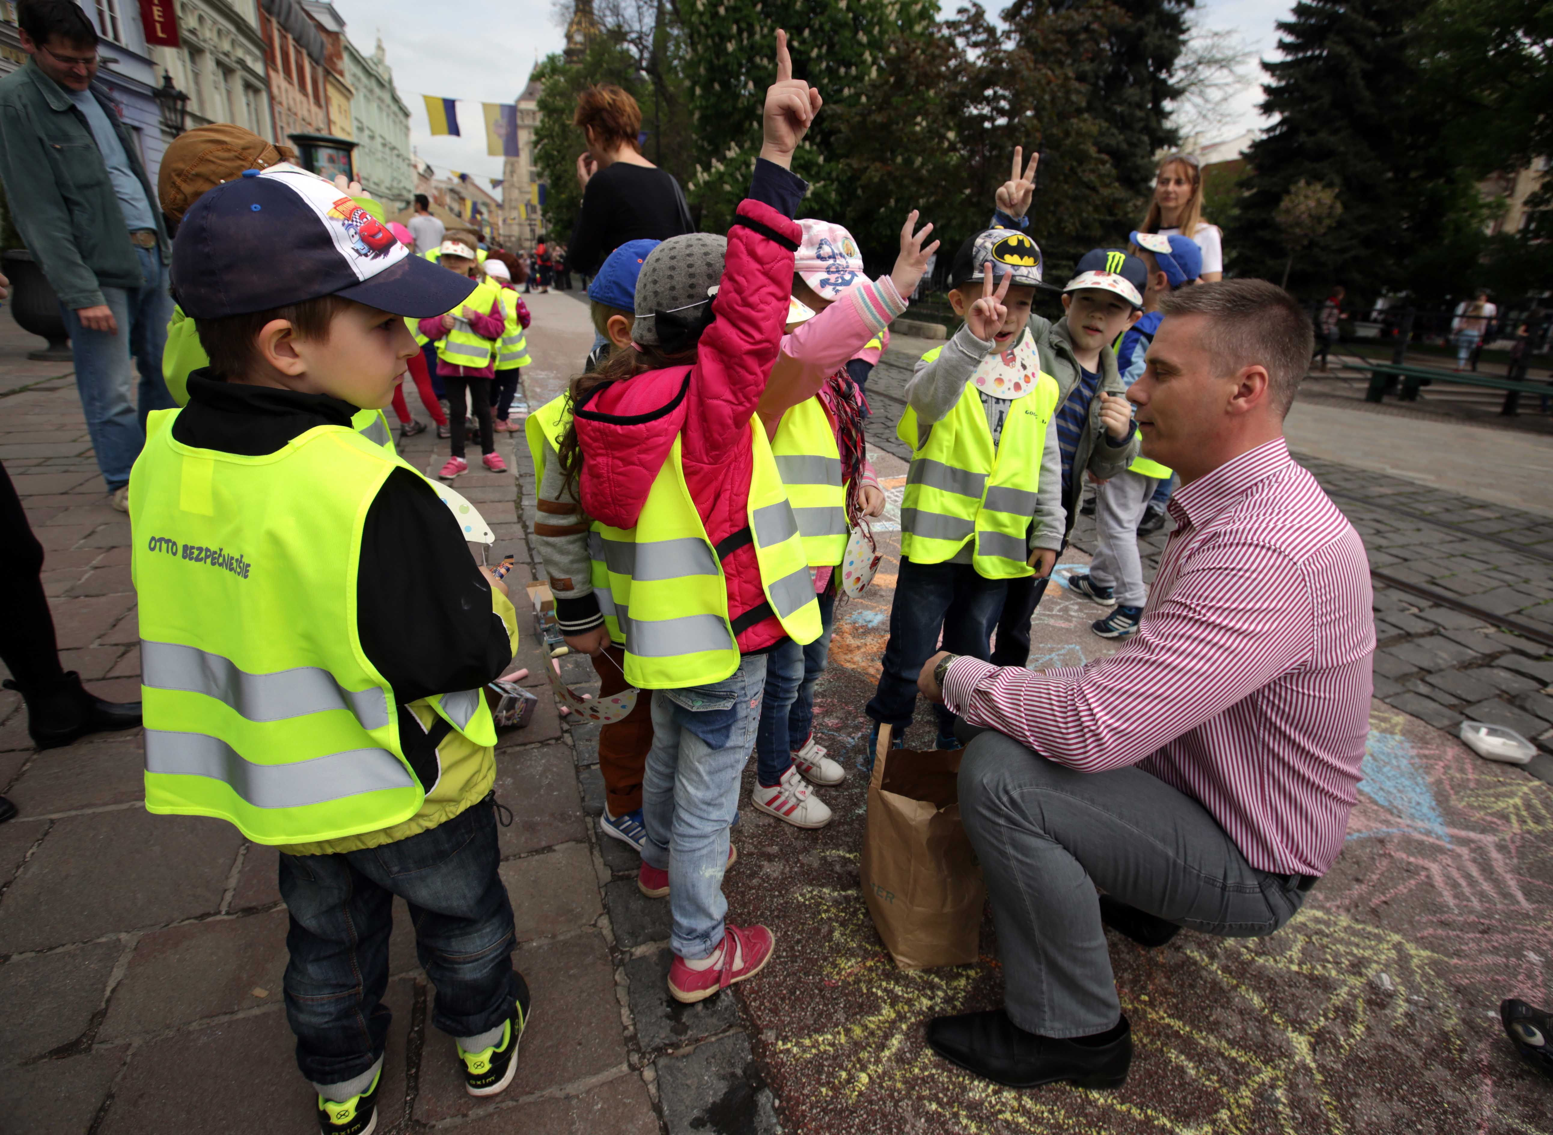
<instances>
[{"instance_id":1,"label":"crouching man's black leather shoe nearest the camera","mask_svg":"<svg viewBox=\"0 0 1553 1135\"><path fill-rule=\"evenodd\" d=\"M1025 1033L1003 1009L927 1022L927 1043L950 1064L1011 1088L1073 1081L1081 1088L1120 1088L1132 1064L1132 1026L1123 1017L1100 1045Z\"/></svg>"}]
</instances>

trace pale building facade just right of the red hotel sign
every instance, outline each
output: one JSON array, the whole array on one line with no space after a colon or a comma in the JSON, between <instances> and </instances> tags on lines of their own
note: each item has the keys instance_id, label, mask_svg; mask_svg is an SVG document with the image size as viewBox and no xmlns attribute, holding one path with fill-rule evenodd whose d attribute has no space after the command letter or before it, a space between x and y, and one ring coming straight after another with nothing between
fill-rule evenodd
<instances>
[{"instance_id":1,"label":"pale building facade just right of the red hotel sign","mask_svg":"<svg viewBox=\"0 0 1553 1135\"><path fill-rule=\"evenodd\" d=\"M179 47L154 47L151 57L189 96L186 127L236 123L272 138L258 0L180 0L174 11Z\"/></svg>"}]
</instances>

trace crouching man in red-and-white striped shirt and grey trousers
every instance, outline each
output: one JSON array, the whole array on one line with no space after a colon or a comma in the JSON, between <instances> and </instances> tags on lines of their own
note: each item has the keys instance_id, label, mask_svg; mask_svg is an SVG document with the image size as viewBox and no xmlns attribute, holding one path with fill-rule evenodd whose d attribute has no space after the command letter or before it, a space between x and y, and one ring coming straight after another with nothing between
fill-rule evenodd
<instances>
[{"instance_id":1,"label":"crouching man in red-and-white striped shirt and grey trousers","mask_svg":"<svg viewBox=\"0 0 1553 1135\"><path fill-rule=\"evenodd\" d=\"M986 727L960 812L1005 978L1002 1009L940 1017L927 1040L1011 1087L1120 1087L1132 1037L1103 924L1143 946L1270 935L1337 857L1359 783L1370 565L1283 439L1311 323L1259 279L1163 311L1127 397L1143 455L1182 486L1137 637L1044 674L940 654L919 679Z\"/></svg>"}]
</instances>

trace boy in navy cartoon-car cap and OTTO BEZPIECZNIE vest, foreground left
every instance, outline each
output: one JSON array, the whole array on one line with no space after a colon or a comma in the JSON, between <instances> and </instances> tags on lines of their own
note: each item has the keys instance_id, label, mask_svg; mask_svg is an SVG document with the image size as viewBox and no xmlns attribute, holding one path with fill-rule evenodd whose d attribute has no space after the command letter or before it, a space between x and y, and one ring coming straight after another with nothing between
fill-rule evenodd
<instances>
[{"instance_id":1,"label":"boy in navy cartoon-car cap and OTTO BEZPIECZNIE vest, foreground left","mask_svg":"<svg viewBox=\"0 0 1553 1135\"><path fill-rule=\"evenodd\" d=\"M353 421L404 379L405 318L474 286L281 163L194 202L172 287L210 365L151 415L129 483L146 809L278 848L286 1017L325 1135L376 1124L396 896L464 1088L495 1095L530 992L481 689L517 615L426 478Z\"/></svg>"}]
</instances>

